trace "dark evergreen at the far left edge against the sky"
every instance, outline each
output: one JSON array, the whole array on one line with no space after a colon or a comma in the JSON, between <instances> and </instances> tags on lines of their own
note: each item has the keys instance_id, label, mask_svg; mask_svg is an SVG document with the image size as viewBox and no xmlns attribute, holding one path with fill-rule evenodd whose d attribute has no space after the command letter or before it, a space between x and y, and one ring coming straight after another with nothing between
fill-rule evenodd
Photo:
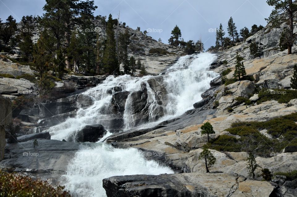
<instances>
[{"instance_id":1,"label":"dark evergreen at the far left edge against the sky","mask_svg":"<svg viewBox=\"0 0 297 197\"><path fill-rule=\"evenodd\" d=\"M10 15L4 23L4 28L2 27L2 30L0 31L0 38L3 40L4 44L7 44L11 40L11 37L15 34L16 30L16 21Z\"/></svg>"}]
</instances>

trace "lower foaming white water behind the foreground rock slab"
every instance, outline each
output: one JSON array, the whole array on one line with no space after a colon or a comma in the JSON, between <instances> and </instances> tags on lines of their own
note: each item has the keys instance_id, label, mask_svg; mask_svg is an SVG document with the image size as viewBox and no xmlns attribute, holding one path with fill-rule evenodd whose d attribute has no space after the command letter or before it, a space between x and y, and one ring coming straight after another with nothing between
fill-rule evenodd
<instances>
[{"instance_id":1,"label":"lower foaming white water behind the foreground rock slab","mask_svg":"<svg viewBox=\"0 0 297 197\"><path fill-rule=\"evenodd\" d=\"M93 143L75 154L63 176L65 187L72 196L103 197L102 179L117 175L171 174L168 167L147 161L135 148L117 149L109 144Z\"/></svg>"}]
</instances>

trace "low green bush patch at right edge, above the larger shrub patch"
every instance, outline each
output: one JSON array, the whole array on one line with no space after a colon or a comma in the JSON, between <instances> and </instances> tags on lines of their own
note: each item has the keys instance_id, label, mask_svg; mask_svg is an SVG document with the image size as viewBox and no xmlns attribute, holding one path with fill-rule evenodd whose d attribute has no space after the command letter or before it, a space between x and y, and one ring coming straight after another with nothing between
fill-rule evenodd
<instances>
[{"instance_id":1,"label":"low green bush patch at right edge, above the larger shrub patch","mask_svg":"<svg viewBox=\"0 0 297 197\"><path fill-rule=\"evenodd\" d=\"M297 90L273 89L273 92L270 92L263 89L258 96L257 104L271 100L278 101L278 103L288 103L290 100L297 98Z\"/></svg>"}]
</instances>

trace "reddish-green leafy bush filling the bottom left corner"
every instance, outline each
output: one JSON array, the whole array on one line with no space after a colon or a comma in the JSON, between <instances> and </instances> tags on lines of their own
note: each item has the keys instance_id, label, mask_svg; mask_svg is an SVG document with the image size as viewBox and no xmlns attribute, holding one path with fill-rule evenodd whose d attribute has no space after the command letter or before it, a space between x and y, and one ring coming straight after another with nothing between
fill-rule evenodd
<instances>
[{"instance_id":1,"label":"reddish-green leafy bush filling the bottom left corner","mask_svg":"<svg viewBox=\"0 0 297 197\"><path fill-rule=\"evenodd\" d=\"M28 176L7 173L0 170L0 196L70 197L71 195L68 191L64 191L63 186L54 188L48 182L41 179L33 180Z\"/></svg>"}]
</instances>

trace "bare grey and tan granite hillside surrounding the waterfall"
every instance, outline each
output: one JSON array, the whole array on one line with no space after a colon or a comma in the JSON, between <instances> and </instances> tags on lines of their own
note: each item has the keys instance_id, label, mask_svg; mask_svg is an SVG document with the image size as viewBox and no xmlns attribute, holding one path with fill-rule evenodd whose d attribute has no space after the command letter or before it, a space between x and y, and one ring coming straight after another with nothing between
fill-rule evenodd
<instances>
[{"instance_id":1,"label":"bare grey and tan granite hillside surrounding the waterfall","mask_svg":"<svg viewBox=\"0 0 297 197\"><path fill-rule=\"evenodd\" d=\"M100 32L104 33L104 28L99 23L95 24ZM147 159L169 165L176 173L106 178L103 180L106 195L296 196L296 178L274 174L271 181L264 181L260 175L265 168L272 173L285 173L296 170L297 165L297 94L290 87L293 66L297 63L297 51L294 48L291 55L287 55L286 50L280 51L278 45L282 27L283 24L281 28L267 26L245 42L218 52L217 60L213 62L211 69L221 76L214 79L210 84L211 88L201 95L203 100L193 103L194 109L182 116L161 122L152 128L117 132L121 129L119 120L123 118L124 103L130 92L122 91L118 86L113 87L110 91L113 94L114 113L106 121L113 122L115 128L109 128L114 134L105 139L105 142L116 148L137 148ZM121 28L121 31L123 30ZM166 65L179 56L176 49L157 43L140 31L129 28L129 32L131 40L143 45L141 50L130 51L130 54L135 54L144 62L150 62L147 66L151 64L152 73L162 72ZM249 46L252 42L259 46L260 57L255 58L250 54ZM149 49L156 46L176 54L150 55ZM250 80L232 81L237 53L245 58L244 67ZM9 62L2 63L4 64L10 65ZM160 64L165 67L160 68ZM87 86L100 83L105 78L67 75L65 79L78 86ZM6 82L7 80L11 81ZM0 83L6 83L2 87L9 87L8 84L14 80L17 79L2 78ZM26 84L28 83L26 81ZM23 85L11 86L9 91L6 90L10 95L23 91L19 88ZM161 77L150 80L148 86L155 92L154 96L160 96L160 105L166 105L167 92ZM13 87L17 88L12 90ZM141 84L141 91L131 93L136 101L132 115L137 117L137 121L147 118L147 88L146 84ZM8 93L2 91L2 94ZM79 143L51 140L49 133L43 132L41 136L38 131L73 117L77 109L92 104L93 100L88 95L68 95L22 110L19 113L21 123L26 125L28 132L33 133L34 128L37 134L25 135L17 144L7 144L5 158L0 167L51 178L51 181L55 182L56 178L67 170L68 162L79 148ZM161 111L154 115L161 115ZM205 122L211 123L215 131L215 134L210 136L210 142L207 136L201 135L201 126ZM80 132L77 135L81 135ZM98 126L96 132L101 135L105 130ZM89 137L90 133L87 134ZM32 140L36 138L43 139L42 148L32 148ZM204 146L208 147L217 159L211 173L205 173L204 165L198 157ZM39 151L39 162L29 157L24 161L23 149ZM248 152L256 154L256 173L259 174L256 179L251 179L248 175Z\"/></svg>"}]
</instances>

